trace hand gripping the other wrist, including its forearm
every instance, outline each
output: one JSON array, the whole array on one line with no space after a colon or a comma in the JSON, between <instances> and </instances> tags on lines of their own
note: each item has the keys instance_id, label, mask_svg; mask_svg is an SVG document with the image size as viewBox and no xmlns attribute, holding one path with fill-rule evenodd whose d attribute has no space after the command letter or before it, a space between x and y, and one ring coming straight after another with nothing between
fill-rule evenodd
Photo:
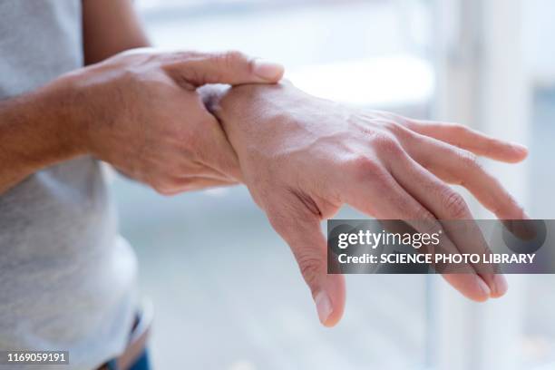
<instances>
[{"instance_id":1,"label":"hand gripping the other wrist, including its forearm","mask_svg":"<svg viewBox=\"0 0 555 370\"><path fill-rule=\"evenodd\" d=\"M157 53L151 49L117 54L65 74L16 99L14 109L9 102L4 104L5 112L0 114L6 118L0 134L4 136L5 131L6 137L14 138L14 149L6 147L0 154L6 161L20 161L14 167L21 173L0 173L0 190L38 167L79 154L107 161L163 194L237 182L240 170L235 152L196 89L205 83L276 83L282 74L277 64L237 52ZM39 106L42 112L28 113ZM41 133L42 127L49 127L49 132ZM17 136L22 141L34 136L36 142L23 145ZM66 151L54 142L62 136ZM44 142L56 155L34 152ZM25 151L20 152L22 147Z\"/></svg>"}]
</instances>

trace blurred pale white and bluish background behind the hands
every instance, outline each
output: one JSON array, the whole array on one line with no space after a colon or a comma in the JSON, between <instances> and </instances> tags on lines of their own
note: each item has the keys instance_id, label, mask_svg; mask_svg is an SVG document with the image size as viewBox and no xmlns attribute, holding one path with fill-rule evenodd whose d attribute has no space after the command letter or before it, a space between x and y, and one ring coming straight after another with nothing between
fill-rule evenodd
<instances>
[{"instance_id":1,"label":"blurred pale white and bluish background behind the hands","mask_svg":"<svg viewBox=\"0 0 555 370\"><path fill-rule=\"evenodd\" d=\"M553 219L555 3L550 0L137 0L163 48L284 63L318 96L466 123L531 148L487 164ZM117 179L121 229L154 302L157 368L535 369L555 364L555 278L511 276L472 304L441 277L348 276L345 318L318 324L287 245L243 187L163 198ZM491 215L473 204L477 217ZM343 209L338 218L361 218Z\"/></svg>"}]
</instances>

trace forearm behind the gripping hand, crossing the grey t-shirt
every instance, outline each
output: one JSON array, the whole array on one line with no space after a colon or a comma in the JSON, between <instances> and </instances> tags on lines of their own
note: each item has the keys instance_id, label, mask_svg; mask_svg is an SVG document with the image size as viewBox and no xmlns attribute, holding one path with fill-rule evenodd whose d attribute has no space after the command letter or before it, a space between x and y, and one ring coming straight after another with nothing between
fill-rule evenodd
<instances>
[{"instance_id":1,"label":"forearm behind the gripping hand, crossing the grey t-shirt","mask_svg":"<svg viewBox=\"0 0 555 370\"><path fill-rule=\"evenodd\" d=\"M0 102L0 194L82 153L71 98L55 84Z\"/></svg>"}]
</instances>

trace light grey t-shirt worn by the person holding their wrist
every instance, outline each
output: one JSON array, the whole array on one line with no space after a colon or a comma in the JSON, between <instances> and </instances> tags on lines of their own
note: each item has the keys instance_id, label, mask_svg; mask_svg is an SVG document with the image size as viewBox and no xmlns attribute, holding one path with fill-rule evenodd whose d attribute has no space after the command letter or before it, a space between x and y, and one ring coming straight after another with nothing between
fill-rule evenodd
<instances>
[{"instance_id":1,"label":"light grey t-shirt worn by the person holding their wrist","mask_svg":"<svg viewBox=\"0 0 555 370\"><path fill-rule=\"evenodd\" d=\"M0 0L0 100L82 65L81 1ZM98 161L35 173L0 194L0 350L69 350L65 370L117 355L136 269Z\"/></svg>"}]
</instances>

